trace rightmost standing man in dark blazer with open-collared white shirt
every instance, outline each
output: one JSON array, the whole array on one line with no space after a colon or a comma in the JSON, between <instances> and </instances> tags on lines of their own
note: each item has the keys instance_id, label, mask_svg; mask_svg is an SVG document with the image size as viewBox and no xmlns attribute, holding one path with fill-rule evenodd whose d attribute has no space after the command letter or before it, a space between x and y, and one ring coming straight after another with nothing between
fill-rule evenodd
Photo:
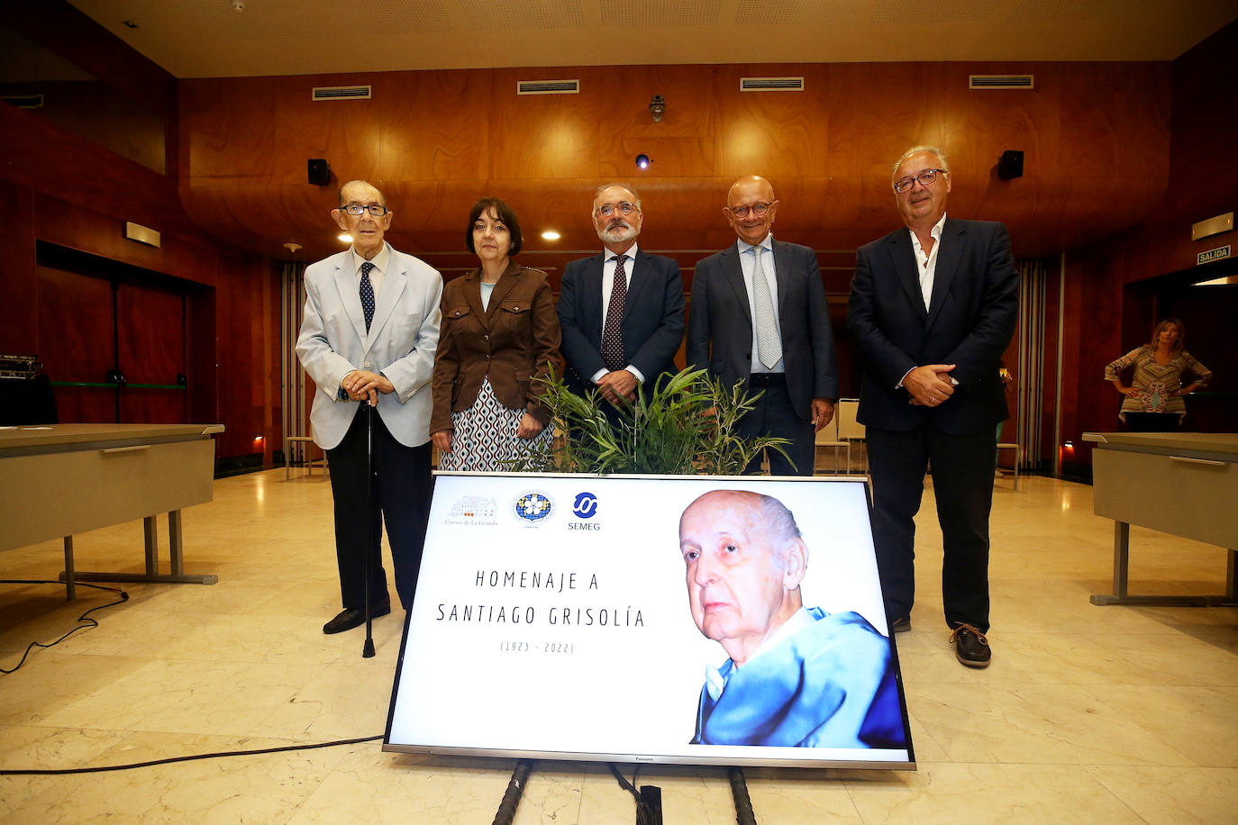
<instances>
[{"instance_id":1,"label":"rightmost standing man in dark blazer with open-collared white shirt","mask_svg":"<svg viewBox=\"0 0 1238 825\"><path fill-rule=\"evenodd\" d=\"M864 365L859 421L873 476L873 541L890 625L910 630L915 524L932 465L942 601L958 660L988 665L989 510L998 375L1019 309L1010 237L998 223L946 218L950 166L916 146L894 168L905 228L855 256L847 328Z\"/></svg>"}]
</instances>

